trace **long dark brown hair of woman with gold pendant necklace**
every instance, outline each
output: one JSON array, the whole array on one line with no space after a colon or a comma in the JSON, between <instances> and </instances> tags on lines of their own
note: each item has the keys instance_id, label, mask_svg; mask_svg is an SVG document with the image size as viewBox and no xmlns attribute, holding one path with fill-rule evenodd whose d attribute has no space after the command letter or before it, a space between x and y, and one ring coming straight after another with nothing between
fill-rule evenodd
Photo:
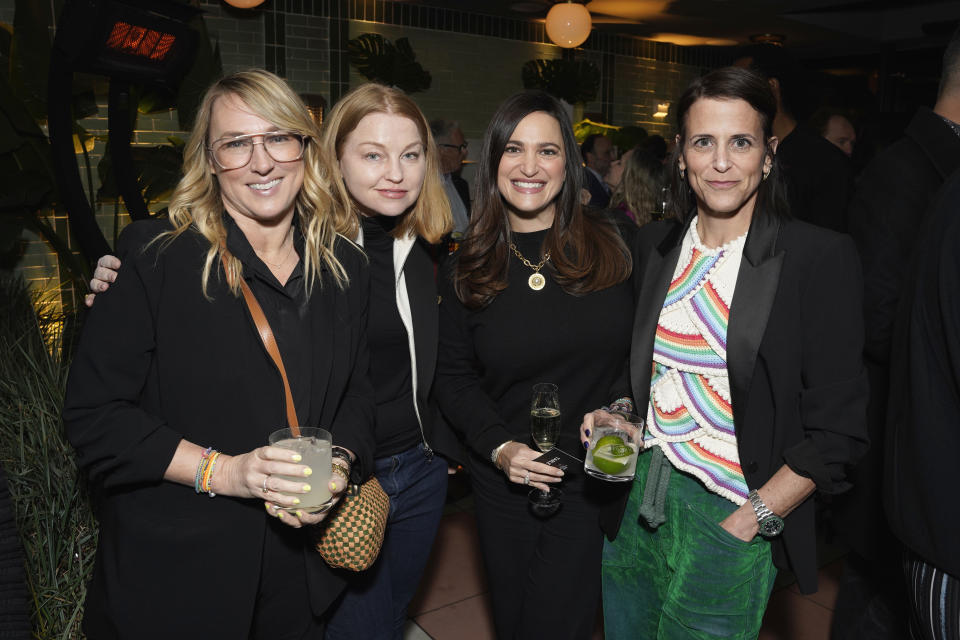
<instances>
[{"instance_id":1,"label":"long dark brown hair of woman with gold pendant necklace","mask_svg":"<svg viewBox=\"0 0 960 640\"><path fill-rule=\"evenodd\" d=\"M615 224L587 213L580 204L583 167L563 105L542 91L524 91L500 105L483 136L477 197L454 270L457 297L468 308L486 306L507 287L510 221L497 187L497 172L517 125L538 111L560 124L564 155L563 186L556 196L553 226L543 241L543 250L551 256L547 268L563 290L573 295L606 289L630 277L630 251Z\"/></svg>"}]
</instances>

